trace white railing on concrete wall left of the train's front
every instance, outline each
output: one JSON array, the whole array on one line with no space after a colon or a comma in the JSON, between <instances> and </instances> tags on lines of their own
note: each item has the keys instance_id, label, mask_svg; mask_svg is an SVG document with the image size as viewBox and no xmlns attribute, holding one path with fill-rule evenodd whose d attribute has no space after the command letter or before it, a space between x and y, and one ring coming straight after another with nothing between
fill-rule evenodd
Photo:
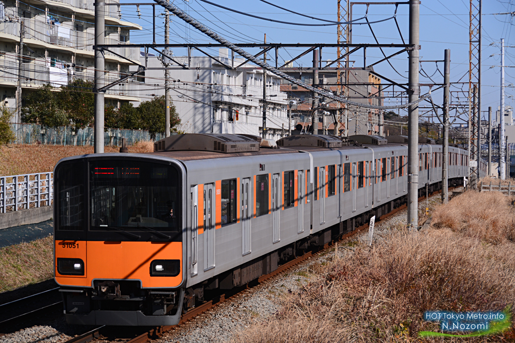
<instances>
[{"instance_id":1,"label":"white railing on concrete wall left of the train's front","mask_svg":"<svg viewBox=\"0 0 515 343\"><path fill-rule=\"evenodd\" d=\"M0 176L0 213L52 205L53 173Z\"/></svg>"}]
</instances>

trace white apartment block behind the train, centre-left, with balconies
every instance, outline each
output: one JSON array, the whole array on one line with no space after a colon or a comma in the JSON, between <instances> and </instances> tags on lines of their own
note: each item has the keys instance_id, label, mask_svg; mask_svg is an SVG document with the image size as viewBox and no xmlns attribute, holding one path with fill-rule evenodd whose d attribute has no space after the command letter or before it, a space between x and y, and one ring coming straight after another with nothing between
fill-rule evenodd
<instances>
[{"instance_id":1,"label":"white apartment block behind the train, centre-left, with balconies","mask_svg":"<svg viewBox=\"0 0 515 343\"><path fill-rule=\"evenodd\" d=\"M174 60L192 69L170 71L170 98L181 118L179 130L188 133L246 133L262 135L263 129L263 70L225 69L221 63L232 65L228 49L218 51L218 62L209 57L178 57ZM221 63L219 63L221 62ZM245 62L235 58L234 65ZM160 58L141 53L142 65L148 67L139 80L142 101L164 95L164 71ZM177 67L173 63L171 66ZM135 71L136 66L130 70ZM279 139L288 134L287 94L280 91L281 79L267 74L267 138ZM134 102L138 106L139 101ZM293 123L292 123L293 125Z\"/></svg>"}]
</instances>

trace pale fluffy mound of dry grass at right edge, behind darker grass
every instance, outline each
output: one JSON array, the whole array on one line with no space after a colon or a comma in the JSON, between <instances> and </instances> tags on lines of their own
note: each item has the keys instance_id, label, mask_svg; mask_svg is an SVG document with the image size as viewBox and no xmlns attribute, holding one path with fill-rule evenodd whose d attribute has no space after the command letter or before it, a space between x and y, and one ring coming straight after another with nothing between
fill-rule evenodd
<instances>
[{"instance_id":1,"label":"pale fluffy mound of dry grass at right edge, behind darker grass","mask_svg":"<svg viewBox=\"0 0 515 343\"><path fill-rule=\"evenodd\" d=\"M432 225L447 227L467 237L499 244L515 240L515 211L512 199L501 192L468 191L433 212Z\"/></svg>"}]
</instances>

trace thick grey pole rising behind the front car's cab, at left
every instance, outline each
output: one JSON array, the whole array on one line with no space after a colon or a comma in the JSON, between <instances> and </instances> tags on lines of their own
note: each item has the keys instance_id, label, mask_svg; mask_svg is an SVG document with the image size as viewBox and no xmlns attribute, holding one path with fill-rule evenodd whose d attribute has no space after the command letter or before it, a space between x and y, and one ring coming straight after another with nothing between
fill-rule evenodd
<instances>
[{"instance_id":1,"label":"thick grey pole rising behind the front car's cab, at left","mask_svg":"<svg viewBox=\"0 0 515 343\"><path fill-rule=\"evenodd\" d=\"M96 46L104 44L106 29L105 3L103 0L95 0L95 154L104 153L104 92L98 89L104 86L105 60L104 51Z\"/></svg>"}]
</instances>

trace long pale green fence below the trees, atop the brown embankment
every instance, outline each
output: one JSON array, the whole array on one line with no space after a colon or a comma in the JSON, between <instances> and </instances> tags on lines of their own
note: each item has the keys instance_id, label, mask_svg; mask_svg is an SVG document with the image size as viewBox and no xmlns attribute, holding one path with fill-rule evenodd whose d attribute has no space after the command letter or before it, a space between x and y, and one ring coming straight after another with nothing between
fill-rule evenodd
<instances>
[{"instance_id":1,"label":"long pale green fence below the trees, atop the brown embankment","mask_svg":"<svg viewBox=\"0 0 515 343\"><path fill-rule=\"evenodd\" d=\"M11 129L16 135L14 144L50 144L66 146L93 146L94 128L84 128L74 130L73 127L64 126L58 128L45 128L38 124L14 124ZM125 130L108 129L104 132L105 146L122 146L122 138L127 138L128 145L145 140L159 140L164 135L158 133L156 137L151 137L146 130Z\"/></svg>"}]
</instances>

